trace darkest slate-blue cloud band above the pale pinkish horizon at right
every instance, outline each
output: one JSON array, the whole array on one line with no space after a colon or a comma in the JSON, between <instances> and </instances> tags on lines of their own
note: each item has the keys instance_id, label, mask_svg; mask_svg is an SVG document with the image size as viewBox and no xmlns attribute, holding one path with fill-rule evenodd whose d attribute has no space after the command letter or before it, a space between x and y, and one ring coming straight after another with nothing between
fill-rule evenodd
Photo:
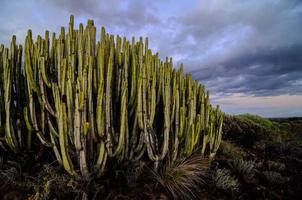
<instances>
[{"instance_id":1,"label":"darkest slate-blue cloud band above the pale pinkish horizon at right","mask_svg":"<svg viewBox=\"0 0 302 200\"><path fill-rule=\"evenodd\" d=\"M302 45L263 49L191 72L216 92L260 96L302 94L301 52Z\"/></svg>"}]
</instances>

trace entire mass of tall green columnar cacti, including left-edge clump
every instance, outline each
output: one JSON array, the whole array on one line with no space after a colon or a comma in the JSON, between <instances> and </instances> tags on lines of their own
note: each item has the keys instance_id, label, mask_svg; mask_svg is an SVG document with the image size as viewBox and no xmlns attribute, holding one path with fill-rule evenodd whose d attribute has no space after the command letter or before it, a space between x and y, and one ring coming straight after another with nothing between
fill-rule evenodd
<instances>
[{"instance_id":1,"label":"entire mass of tall green columnar cacti, including left-edge clump","mask_svg":"<svg viewBox=\"0 0 302 200\"><path fill-rule=\"evenodd\" d=\"M50 42L51 41L51 42ZM213 156L222 114L209 92L162 61L148 38L129 42L96 27L49 32L24 48L0 48L0 140L13 151L37 136L72 175L102 174L108 159L147 159L154 167L193 153ZM23 67L24 66L24 67ZM25 128L26 127L26 128Z\"/></svg>"}]
</instances>

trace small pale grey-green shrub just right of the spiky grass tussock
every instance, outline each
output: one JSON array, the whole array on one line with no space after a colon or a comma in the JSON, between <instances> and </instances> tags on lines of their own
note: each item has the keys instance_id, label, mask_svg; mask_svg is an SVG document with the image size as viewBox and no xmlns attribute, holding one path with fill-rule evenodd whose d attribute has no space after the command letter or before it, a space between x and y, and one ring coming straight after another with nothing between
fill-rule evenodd
<instances>
[{"instance_id":1,"label":"small pale grey-green shrub just right of the spiky grass tussock","mask_svg":"<svg viewBox=\"0 0 302 200\"><path fill-rule=\"evenodd\" d=\"M239 189L238 180L231 176L231 172L227 169L217 169L212 174L212 182L216 188L221 190L237 191Z\"/></svg>"}]
</instances>

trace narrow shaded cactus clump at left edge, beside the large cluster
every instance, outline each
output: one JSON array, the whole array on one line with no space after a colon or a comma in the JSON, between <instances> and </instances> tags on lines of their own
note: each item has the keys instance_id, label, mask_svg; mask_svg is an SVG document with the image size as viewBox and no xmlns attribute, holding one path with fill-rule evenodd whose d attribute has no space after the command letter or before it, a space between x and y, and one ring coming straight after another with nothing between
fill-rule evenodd
<instances>
[{"instance_id":1,"label":"narrow shaded cactus clump at left edge, beside the large cluster","mask_svg":"<svg viewBox=\"0 0 302 200\"><path fill-rule=\"evenodd\" d=\"M16 44L16 36L12 37L10 49L0 47L0 136L4 136L6 147L17 153L26 144L30 148L30 134L25 136L23 126L23 107L25 105L22 74L22 46ZM2 141L0 144L7 149Z\"/></svg>"}]
</instances>

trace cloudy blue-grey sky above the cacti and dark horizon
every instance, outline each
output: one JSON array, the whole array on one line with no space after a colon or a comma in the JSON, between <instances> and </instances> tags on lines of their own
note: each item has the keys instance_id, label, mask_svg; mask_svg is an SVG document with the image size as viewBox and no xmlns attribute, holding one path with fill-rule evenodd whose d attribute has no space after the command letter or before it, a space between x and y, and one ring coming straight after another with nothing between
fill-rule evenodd
<instances>
[{"instance_id":1,"label":"cloudy blue-grey sky above the cacti and dark horizon","mask_svg":"<svg viewBox=\"0 0 302 200\"><path fill-rule=\"evenodd\" d=\"M301 0L0 0L0 43L59 33L69 16L100 32L149 37L229 114L302 116Z\"/></svg>"}]
</instances>

